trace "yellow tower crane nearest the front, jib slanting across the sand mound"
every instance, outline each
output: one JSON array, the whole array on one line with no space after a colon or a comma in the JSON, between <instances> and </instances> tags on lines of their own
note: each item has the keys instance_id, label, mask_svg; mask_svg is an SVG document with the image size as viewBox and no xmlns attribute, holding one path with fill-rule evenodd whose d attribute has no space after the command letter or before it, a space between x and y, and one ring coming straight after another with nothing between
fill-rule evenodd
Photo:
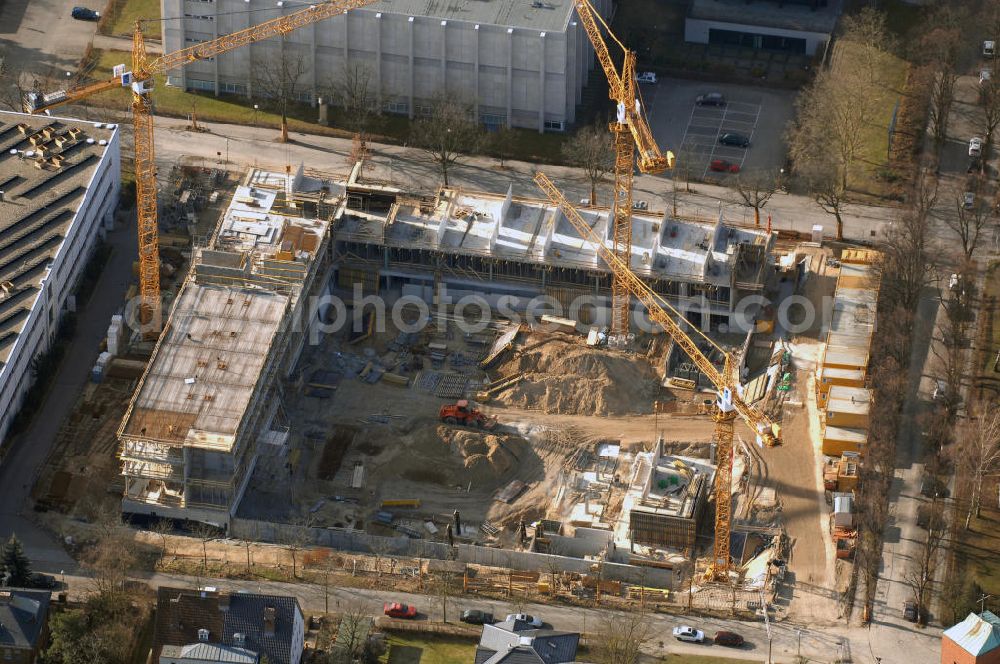
<instances>
[{"instance_id":1,"label":"yellow tower crane nearest the front, jib slanting across the sand mound","mask_svg":"<svg viewBox=\"0 0 1000 664\"><path fill-rule=\"evenodd\" d=\"M642 279L637 277L627 262L622 260L615 252L608 249L598 234L584 221L580 213L576 211L576 208L566 200L566 197L562 195L562 192L556 188L552 181L544 173L539 172L535 174L535 183L545 192L545 195L548 196L552 204L562 210L580 236L585 241L594 245L598 255L611 269L615 279L621 282L622 287L642 302L649 312L649 317L656 321L670 335L674 343L687 353L699 371L705 374L716 390L718 390L714 415L716 423L716 449L718 452L718 469L715 472L715 543L712 565L708 571L708 576L717 581L726 580L729 574L733 420L737 414L740 415L768 447L772 447L779 442L781 429L764 413L739 397L736 389L739 381L737 380L733 360L729 353L719 348L715 342L698 330L697 327L691 326L702 338L722 352L725 360L723 368L720 371L710 359L705 357L705 354L701 352L694 340L681 328L680 322L684 322L684 317L680 312L661 295L647 286Z\"/></svg>"}]
</instances>

